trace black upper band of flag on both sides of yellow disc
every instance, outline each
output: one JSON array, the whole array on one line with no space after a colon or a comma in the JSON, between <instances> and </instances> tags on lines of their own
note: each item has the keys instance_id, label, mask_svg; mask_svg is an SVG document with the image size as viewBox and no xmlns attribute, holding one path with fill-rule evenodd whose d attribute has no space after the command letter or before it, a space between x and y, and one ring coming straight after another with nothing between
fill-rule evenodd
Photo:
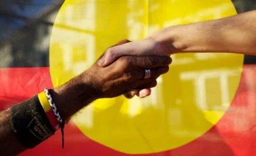
<instances>
[{"instance_id":1,"label":"black upper band of flag on both sides of yellow disc","mask_svg":"<svg viewBox=\"0 0 256 156\"><path fill-rule=\"evenodd\" d=\"M49 38L62 0L9 0L0 2L0 67L49 66ZM233 0L238 13L256 9L254 0ZM82 8L82 7L81 7ZM83 13L83 9L75 9ZM67 21L69 19L66 19ZM99 22L100 24L100 22ZM68 28L66 25L66 29ZM245 56L246 63L255 63Z\"/></svg>"}]
</instances>

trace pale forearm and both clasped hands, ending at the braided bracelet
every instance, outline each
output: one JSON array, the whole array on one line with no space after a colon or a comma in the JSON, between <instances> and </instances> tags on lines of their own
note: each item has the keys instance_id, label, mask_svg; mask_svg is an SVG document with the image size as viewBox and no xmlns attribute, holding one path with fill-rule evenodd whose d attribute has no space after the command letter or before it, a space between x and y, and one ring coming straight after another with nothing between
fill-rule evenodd
<instances>
[{"instance_id":1,"label":"pale forearm and both clasped hands, ending at the braided bracelet","mask_svg":"<svg viewBox=\"0 0 256 156\"><path fill-rule=\"evenodd\" d=\"M157 77L168 72L172 54L255 55L256 24L250 22L255 19L256 11L251 11L213 21L170 26L134 42L122 40L108 48L88 70L55 89L53 99L65 110L61 114L67 118L96 99L122 94L127 98L149 96Z\"/></svg>"}]
</instances>

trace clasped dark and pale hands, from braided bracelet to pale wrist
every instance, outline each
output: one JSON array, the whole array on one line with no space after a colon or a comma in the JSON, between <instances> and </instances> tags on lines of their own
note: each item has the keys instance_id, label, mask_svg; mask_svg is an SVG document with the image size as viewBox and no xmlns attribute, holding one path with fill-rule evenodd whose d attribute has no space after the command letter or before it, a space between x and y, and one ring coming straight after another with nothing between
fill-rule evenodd
<instances>
[{"instance_id":1,"label":"clasped dark and pale hands, from braided bracelet to pale wrist","mask_svg":"<svg viewBox=\"0 0 256 156\"><path fill-rule=\"evenodd\" d=\"M153 38L136 42L122 40L108 48L85 72L53 90L60 114L70 116L94 100L124 94L146 97L157 85L157 77L169 71L172 49Z\"/></svg>"}]
</instances>

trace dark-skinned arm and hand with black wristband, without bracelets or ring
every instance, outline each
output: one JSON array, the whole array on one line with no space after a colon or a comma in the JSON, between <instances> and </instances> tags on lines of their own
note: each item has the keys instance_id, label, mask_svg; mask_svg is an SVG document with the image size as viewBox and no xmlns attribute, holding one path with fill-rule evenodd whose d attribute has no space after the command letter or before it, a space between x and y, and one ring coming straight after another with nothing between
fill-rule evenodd
<instances>
[{"instance_id":1,"label":"dark-skinned arm and hand with black wristband, without bracelets or ring","mask_svg":"<svg viewBox=\"0 0 256 156\"><path fill-rule=\"evenodd\" d=\"M117 97L132 89L155 87L157 77L169 70L170 63L170 57L123 56L104 68L94 63L92 67L68 83L49 91L60 117L68 121L73 114L93 100ZM153 71L151 79L143 79L143 69ZM2 111L0 114L1 155L19 154L26 150L22 145L33 148L54 133L40 102L35 96L11 109ZM34 132L39 133L42 138L38 140L38 135ZM15 135L22 144L17 141L18 139L16 140Z\"/></svg>"}]
</instances>

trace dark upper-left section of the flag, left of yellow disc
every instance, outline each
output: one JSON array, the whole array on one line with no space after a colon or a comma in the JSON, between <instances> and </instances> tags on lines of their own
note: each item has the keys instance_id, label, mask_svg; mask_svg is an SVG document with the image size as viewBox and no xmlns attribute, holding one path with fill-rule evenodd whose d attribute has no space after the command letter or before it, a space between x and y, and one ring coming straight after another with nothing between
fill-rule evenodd
<instances>
[{"instance_id":1,"label":"dark upper-left section of the flag, left of yellow disc","mask_svg":"<svg viewBox=\"0 0 256 156\"><path fill-rule=\"evenodd\" d=\"M0 67L49 66L48 42L53 23L48 22L47 17L58 11L63 1L55 0L54 4L42 6L31 3L21 9L12 9L9 6L17 5L13 1L0 7ZM43 11L31 15L27 8Z\"/></svg>"}]
</instances>

